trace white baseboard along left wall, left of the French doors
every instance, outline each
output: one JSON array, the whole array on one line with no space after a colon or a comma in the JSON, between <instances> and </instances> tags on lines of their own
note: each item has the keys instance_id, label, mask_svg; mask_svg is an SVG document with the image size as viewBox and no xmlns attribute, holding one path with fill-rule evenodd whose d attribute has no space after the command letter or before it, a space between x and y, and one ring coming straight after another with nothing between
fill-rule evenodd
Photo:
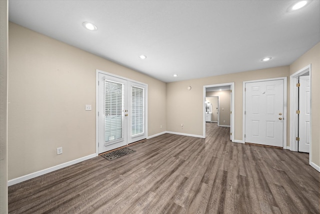
<instances>
[{"instance_id":1,"label":"white baseboard along left wall, left of the French doors","mask_svg":"<svg viewBox=\"0 0 320 214\"><path fill-rule=\"evenodd\" d=\"M40 176L40 175L43 175L43 174L46 174L46 173L61 169L61 168L64 168L66 166L73 165L75 163L82 162L84 160L88 160L88 159L93 158L93 157L96 157L95 153L87 155L85 157L80 157L78 159L71 160L71 161L68 161L68 162L65 162L65 163L61 163L61 164L56 165L56 166L52 166L52 167L49 167L49 168L46 168L46 169L42 169L40 171L36 171L36 172L30 173L30 174L26 174L26 175L23 175L21 177L13 178L11 180L8 180L8 186L11 186L11 185L20 183L22 181L29 180L31 178L34 178L34 177L37 177L37 176Z\"/></svg>"}]
</instances>

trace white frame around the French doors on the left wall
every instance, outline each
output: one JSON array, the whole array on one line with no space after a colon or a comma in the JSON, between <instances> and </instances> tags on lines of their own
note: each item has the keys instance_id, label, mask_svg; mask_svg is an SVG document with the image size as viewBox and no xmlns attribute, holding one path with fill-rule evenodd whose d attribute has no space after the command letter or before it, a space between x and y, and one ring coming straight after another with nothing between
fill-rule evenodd
<instances>
[{"instance_id":1,"label":"white frame around the French doors on the left wall","mask_svg":"<svg viewBox=\"0 0 320 214\"><path fill-rule=\"evenodd\" d=\"M104 75L108 75L108 76L112 76L115 78L119 78L119 79L124 79L133 83L138 83L138 84L142 84L146 86L146 90L145 90L145 134L146 137L148 137L148 85L142 82L138 82L135 80L131 80L125 77L121 77L115 74L111 74L111 73L107 73L101 70L96 69L95 70L95 155L98 156L99 155L99 148L98 148L98 95L99 95L99 85L98 85L98 81L99 81L99 73L102 73Z\"/></svg>"}]
</instances>

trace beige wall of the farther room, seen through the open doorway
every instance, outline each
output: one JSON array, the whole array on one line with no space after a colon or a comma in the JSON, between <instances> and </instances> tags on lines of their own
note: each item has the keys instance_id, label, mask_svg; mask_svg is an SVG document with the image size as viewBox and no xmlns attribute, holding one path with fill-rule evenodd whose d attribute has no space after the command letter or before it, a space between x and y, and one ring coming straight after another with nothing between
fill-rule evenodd
<instances>
[{"instance_id":1,"label":"beige wall of the farther room, seen through the open doorway","mask_svg":"<svg viewBox=\"0 0 320 214\"><path fill-rule=\"evenodd\" d=\"M206 92L207 97L218 96L219 97L219 112L220 112L220 125L229 126L230 125L230 105L231 105L231 96L230 90L224 91L208 91ZM225 122L223 122L225 121Z\"/></svg>"}]
</instances>

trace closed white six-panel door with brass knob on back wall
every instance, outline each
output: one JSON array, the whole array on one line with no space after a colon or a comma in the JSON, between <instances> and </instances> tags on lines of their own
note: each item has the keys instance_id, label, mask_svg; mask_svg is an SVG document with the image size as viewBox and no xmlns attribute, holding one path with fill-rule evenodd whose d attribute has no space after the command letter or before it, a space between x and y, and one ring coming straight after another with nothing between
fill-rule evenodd
<instances>
[{"instance_id":1,"label":"closed white six-panel door with brass knob on back wall","mask_svg":"<svg viewBox=\"0 0 320 214\"><path fill-rule=\"evenodd\" d=\"M283 147L283 80L245 83L245 142Z\"/></svg>"}]
</instances>

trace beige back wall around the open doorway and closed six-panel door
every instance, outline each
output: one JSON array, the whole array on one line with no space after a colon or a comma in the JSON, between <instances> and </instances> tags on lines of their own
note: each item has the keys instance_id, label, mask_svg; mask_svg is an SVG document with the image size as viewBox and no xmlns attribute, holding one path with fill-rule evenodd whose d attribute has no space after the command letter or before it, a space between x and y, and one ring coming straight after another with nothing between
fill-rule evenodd
<instances>
[{"instance_id":1,"label":"beige back wall around the open doorway and closed six-panel door","mask_svg":"<svg viewBox=\"0 0 320 214\"><path fill-rule=\"evenodd\" d=\"M202 136L203 86L234 82L235 140L242 140L242 83L243 81L288 77L289 66L247 71L201 79L167 83L167 130ZM187 86L191 86L190 91ZM175 108L176 103L183 106ZM187 115L187 116L185 116ZM184 127L180 125L183 123ZM288 121L287 121L288 124ZM289 130L287 129L287 133ZM288 141L287 141L288 142Z\"/></svg>"}]
</instances>

